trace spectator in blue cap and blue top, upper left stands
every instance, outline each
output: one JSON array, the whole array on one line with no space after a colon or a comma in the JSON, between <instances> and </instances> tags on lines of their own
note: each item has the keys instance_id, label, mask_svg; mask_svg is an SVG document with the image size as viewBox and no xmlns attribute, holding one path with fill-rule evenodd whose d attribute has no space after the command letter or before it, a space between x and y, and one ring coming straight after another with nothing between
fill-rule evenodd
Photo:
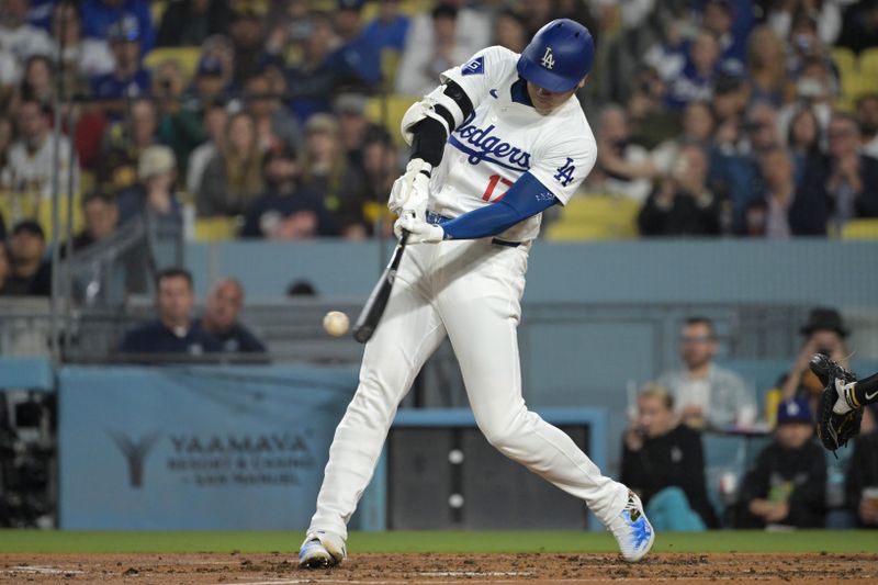
<instances>
[{"instance_id":1,"label":"spectator in blue cap and blue top, upper left stands","mask_svg":"<svg viewBox=\"0 0 878 585\"><path fill-rule=\"evenodd\" d=\"M115 57L112 72L91 78L91 91L103 102L112 120L124 113L126 100L149 93L149 71L140 64L143 35L137 19L125 15L106 31L106 40Z\"/></svg>"}]
</instances>

